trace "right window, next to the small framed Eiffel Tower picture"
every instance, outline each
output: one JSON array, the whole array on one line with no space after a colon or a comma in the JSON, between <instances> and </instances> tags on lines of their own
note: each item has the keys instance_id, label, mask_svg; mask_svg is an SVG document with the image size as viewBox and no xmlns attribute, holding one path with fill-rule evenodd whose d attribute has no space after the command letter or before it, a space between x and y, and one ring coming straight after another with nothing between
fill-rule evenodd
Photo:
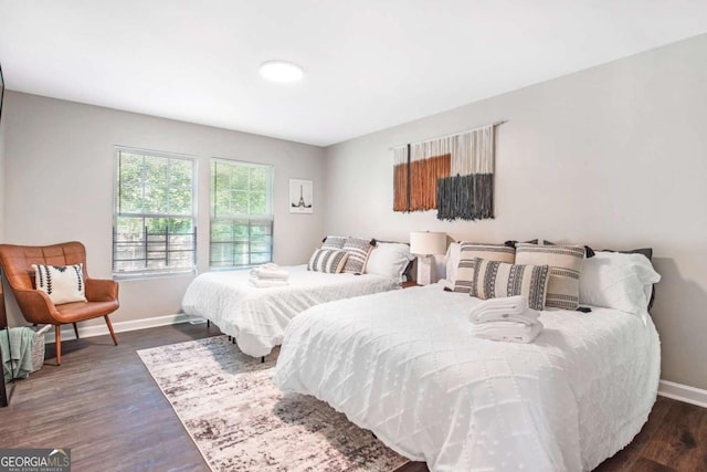
<instances>
[{"instance_id":1,"label":"right window, next to the small framed Eiffel Tower picture","mask_svg":"<svg viewBox=\"0 0 707 472\"><path fill-rule=\"evenodd\" d=\"M273 260L273 167L211 160L211 268Z\"/></svg>"}]
</instances>

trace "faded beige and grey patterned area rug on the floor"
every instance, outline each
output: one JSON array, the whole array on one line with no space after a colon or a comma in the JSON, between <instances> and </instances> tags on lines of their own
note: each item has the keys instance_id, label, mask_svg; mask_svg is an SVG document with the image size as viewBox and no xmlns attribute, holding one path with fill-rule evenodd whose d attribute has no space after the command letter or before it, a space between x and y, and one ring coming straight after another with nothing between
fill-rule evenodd
<instances>
[{"instance_id":1,"label":"faded beige and grey patterned area rug on the floor","mask_svg":"<svg viewBox=\"0 0 707 472\"><path fill-rule=\"evenodd\" d=\"M408 460L314 397L283 396L275 360L225 336L138 350L213 471L381 471Z\"/></svg>"}]
</instances>

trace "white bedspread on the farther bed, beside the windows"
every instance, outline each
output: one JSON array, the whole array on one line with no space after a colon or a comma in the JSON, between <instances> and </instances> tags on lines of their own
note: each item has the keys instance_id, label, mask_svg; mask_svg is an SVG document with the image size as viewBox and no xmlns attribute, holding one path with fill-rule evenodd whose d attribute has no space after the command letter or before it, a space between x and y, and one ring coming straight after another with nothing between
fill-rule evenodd
<instances>
[{"instance_id":1,"label":"white bedspread on the farther bed, beside the windows","mask_svg":"<svg viewBox=\"0 0 707 472\"><path fill-rule=\"evenodd\" d=\"M282 343L291 319L310 306L400 287L373 274L325 274L307 271L306 265L283 269L289 284L267 289L251 286L249 271L200 274L187 289L182 310L212 321L235 337L243 353L261 357Z\"/></svg>"}]
</instances>

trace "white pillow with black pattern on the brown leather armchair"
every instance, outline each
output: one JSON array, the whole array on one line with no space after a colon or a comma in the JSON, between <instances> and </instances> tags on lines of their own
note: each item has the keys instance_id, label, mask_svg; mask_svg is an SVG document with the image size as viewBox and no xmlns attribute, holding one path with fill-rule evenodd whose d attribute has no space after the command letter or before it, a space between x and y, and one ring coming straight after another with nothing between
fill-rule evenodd
<instances>
[{"instance_id":1,"label":"white pillow with black pattern on the brown leather armchair","mask_svg":"<svg viewBox=\"0 0 707 472\"><path fill-rule=\"evenodd\" d=\"M45 292L54 305L85 302L83 266L32 264L35 287Z\"/></svg>"}]
</instances>

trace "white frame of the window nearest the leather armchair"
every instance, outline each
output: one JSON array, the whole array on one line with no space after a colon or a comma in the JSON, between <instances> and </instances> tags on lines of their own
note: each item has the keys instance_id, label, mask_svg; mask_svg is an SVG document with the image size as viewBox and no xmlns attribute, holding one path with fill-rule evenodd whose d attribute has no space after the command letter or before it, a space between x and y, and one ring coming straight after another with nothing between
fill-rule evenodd
<instances>
[{"instance_id":1,"label":"white frame of the window nearest the leather armchair","mask_svg":"<svg viewBox=\"0 0 707 472\"><path fill-rule=\"evenodd\" d=\"M191 214L180 214L180 213L158 213L158 212L122 212L118 208L118 197L120 190L120 153L130 153L130 154L139 154L143 157L158 157L166 158L170 160L186 160L191 164ZM126 279L149 279L149 277L158 277L158 276L169 276L169 275L180 275L180 274L194 274L197 273L197 202L198 202L198 159L196 156L176 154L176 153L165 153L159 150L150 150L150 149L139 149L127 146L115 146L114 153L114 178L113 178L113 241L112 241L112 266L113 266L113 279L116 280L126 280ZM169 186L169 183L168 183ZM143 179L143 191L145 191L145 178ZM168 192L169 195L169 192ZM190 219L192 227L192 249L189 252L192 252L192 263L189 266L176 266L170 268L169 265L161 269L148 269L147 261L149 260L149 251L146 251L145 258L140 258L138 260L145 261L145 268L139 270L130 270L130 271L116 271L116 260L117 255L117 244L124 243L117 240L117 219L118 218L177 218L177 219ZM146 229L147 231L147 229ZM147 240L143 242L143 244L147 245ZM168 242L166 242L166 259L169 258ZM183 252L183 251L182 251Z\"/></svg>"}]
</instances>

